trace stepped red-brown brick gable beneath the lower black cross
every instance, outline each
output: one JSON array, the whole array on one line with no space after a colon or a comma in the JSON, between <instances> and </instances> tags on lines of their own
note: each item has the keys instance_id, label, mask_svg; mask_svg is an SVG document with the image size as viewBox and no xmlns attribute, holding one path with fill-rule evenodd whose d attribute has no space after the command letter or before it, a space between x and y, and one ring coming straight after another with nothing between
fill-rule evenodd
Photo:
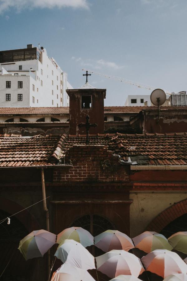
<instances>
[{"instance_id":1,"label":"stepped red-brown brick gable beneath the lower black cross","mask_svg":"<svg viewBox=\"0 0 187 281\"><path fill-rule=\"evenodd\" d=\"M66 159L71 168L55 169L54 182L120 182L128 181L128 168L121 165L118 155L103 145L73 145Z\"/></svg>"}]
</instances>

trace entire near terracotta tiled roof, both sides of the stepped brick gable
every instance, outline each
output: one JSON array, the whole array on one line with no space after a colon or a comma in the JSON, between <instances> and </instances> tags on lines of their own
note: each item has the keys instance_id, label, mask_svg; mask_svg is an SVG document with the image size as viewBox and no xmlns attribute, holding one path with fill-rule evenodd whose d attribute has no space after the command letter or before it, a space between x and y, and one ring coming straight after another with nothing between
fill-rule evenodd
<instances>
[{"instance_id":1,"label":"entire near terracotta tiled roof, both sides of the stepped brick gable","mask_svg":"<svg viewBox=\"0 0 187 281\"><path fill-rule=\"evenodd\" d=\"M69 148L85 142L84 135L0 135L0 167L58 165ZM137 165L187 165L187 133L97 134L90 135L90 145L103 145Z\"/></svg>"}]
</instances>

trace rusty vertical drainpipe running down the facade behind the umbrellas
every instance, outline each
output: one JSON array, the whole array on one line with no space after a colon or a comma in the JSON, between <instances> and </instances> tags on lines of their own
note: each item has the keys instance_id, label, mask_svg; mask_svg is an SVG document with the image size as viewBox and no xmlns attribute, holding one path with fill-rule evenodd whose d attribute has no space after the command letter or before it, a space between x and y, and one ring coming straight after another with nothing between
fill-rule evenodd
<instances>
[{"instance_id":1,"label":"rusty vertical drainpipe running down the facade behind the umbrellas","mask_svg":"<svg viewBox=\"0 0 187 281\"><path fill-rule=\"evenodd\" d=\"M41 186L42 186L42 196L43 196L43 208L46 212L46 230L49 231L49 210L47 209L46 203L46 186L44 178L44 169L41 169ZM47 272L48 278L50 278L50 249L47 251Z\"/></svg>"}]
</instances>

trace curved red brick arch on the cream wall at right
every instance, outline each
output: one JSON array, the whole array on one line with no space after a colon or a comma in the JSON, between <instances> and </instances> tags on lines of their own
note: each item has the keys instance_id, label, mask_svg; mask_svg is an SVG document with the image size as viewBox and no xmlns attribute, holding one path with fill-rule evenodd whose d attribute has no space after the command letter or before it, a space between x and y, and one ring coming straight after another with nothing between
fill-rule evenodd
<instances>
[{"instance_id":1,"label":"curved red brick arch on the cream wall at right","mask_svg":"<svg viewBox=\"0 0 187 281\"><path fill-rule=\"evenodd\" d=\"M174 205L162 211L151 221L150 224L148 224L146 230L160 233L162 229L170 224L170 222L184 214L187 214L187 199L175 203Z\"/></svg>"}]
</instances>

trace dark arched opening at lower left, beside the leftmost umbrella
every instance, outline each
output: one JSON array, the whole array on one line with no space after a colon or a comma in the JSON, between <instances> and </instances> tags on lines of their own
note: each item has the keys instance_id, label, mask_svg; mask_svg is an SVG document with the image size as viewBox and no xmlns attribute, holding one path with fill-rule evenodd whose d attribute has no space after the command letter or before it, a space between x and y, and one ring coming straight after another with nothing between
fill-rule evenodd
<instances>
[{"instance_id":1,"label":"dark arched opening at lower left, beside the leftmost umbrella","mask_svg":"<svg viewBox=\"0 0 187 281\"><path fill-rule=\"evenodd\" d=\"M0 210L0 220L11 214ZM19 241L28 234L25 226L16 218L10 218L10 224L4 221L0 224L0 273L2 280L29 281L35 268L35 260L26 261L17 249Z\"/></svg>"}]
</instances>

